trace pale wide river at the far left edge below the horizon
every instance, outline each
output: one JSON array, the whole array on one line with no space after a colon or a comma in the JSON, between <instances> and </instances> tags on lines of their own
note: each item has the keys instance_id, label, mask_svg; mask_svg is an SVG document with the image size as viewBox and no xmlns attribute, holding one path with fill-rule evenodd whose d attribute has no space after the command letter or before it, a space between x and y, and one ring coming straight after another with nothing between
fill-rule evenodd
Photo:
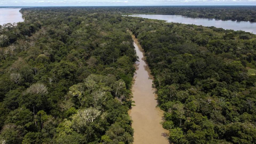
<instances>
[{"instance_id":1,"label":"pale wide river at the far left edge below the horizon","mask_svg":"<svg viewBox=\"0 0 256 144\"><path fill-rule=\"evenodd\" d=\"M21 8L0 8L0 25L6 23L23 22Z\"/></svg>"}]
</instances>

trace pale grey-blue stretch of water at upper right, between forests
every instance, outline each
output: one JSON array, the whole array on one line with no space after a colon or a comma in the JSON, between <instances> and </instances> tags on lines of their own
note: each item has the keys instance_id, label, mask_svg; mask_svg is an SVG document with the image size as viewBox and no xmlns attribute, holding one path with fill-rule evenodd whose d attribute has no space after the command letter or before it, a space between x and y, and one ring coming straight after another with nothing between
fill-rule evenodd
<instances>
[{"instance_id":1,"label":"pale grey-blue stretch of water at upper right, between forests","mask_svg":"<svg viewBox=\"0 0 256 144\"><path fill-rule=\"evenodd\" d=\"M214 26L223 29L231 30L243 30L246 32L251 32L256 34L256 22L245 22L245 21L222 21L217 19L207 19L207 18L189 18L181 15L159 15L159 14L139 14L139 15L129 15L132 17L142 17L149 19L165 20L167 22L176 22L184 24L194 24L202 26Z\"/></svg>"}]
</instances>

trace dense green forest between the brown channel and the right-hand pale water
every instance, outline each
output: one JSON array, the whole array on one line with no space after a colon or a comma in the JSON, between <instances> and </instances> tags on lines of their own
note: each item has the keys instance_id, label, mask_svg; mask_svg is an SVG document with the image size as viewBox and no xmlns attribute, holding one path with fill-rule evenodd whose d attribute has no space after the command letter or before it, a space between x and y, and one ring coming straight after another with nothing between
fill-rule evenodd
<instances>
[{"instance_id":1,"label":"dense green forest between the brown channel and the right-hand pale water","mask_svg":"<svg viewBox=\"0 0 256 144\"><path fill-rule=\"evenodd\" d=\"M155 77L169 139L184 143L256 141L256 35L137 19L133 29Z\"/></svg>"}]
</instances>

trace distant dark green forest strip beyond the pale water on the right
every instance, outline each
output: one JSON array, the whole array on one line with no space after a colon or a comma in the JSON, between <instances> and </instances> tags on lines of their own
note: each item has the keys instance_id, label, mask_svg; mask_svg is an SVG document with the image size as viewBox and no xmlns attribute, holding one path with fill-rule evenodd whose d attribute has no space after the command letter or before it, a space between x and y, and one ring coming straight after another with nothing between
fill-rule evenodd
<instances>
[{"instance_id":1,"label":"distant dark green forest strip beyond the pale water on the right","mask_svg":"<svg viewBox=\"0 0 256 144\"><path fill-rule=\"evenodd\" d=\"M128 14L169 14L256 22L256 6L124 6L113 9Z\"/></svg>"}]
</instances>

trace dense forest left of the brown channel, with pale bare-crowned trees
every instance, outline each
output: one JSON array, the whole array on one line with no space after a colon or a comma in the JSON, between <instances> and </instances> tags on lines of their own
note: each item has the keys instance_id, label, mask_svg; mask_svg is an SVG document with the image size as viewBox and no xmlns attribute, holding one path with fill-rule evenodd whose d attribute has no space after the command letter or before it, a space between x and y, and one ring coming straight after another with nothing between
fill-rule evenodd
<instances>
[{"instance_id":1,"label":"dense forest left of the brown channel, with pale bare-crowned trees","mask_svg":"<svg viewBox=\"0 0 256 144\"><path fill-rule=\"evenodd\" d=\"M132 143L135 71L121 16L22 9L0 30L1 143Z\"/></svg>"}]
</instances>

